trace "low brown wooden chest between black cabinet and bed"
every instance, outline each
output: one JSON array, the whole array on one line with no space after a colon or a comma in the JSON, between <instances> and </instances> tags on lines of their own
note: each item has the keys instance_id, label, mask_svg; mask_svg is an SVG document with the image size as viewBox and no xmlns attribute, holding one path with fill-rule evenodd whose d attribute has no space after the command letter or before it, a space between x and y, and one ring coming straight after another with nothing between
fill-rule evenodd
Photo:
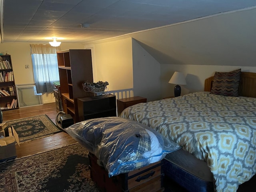
<instances>
[{"instance_id":1,"label":"low brown wooden chest between black cabinet and bed","mask_svg":"<svg viewBox=\"0 0 256 192\"><path fill-rule=\"evenodd\" d=\"M135 96L135 97L118 99L116 102L117 102L117 113L118 113L118 116L120 116L121 112L125 108L135 105L135 104L138 104L138 103L146 103L147 98Z\"/></svg>"}]
</instances>

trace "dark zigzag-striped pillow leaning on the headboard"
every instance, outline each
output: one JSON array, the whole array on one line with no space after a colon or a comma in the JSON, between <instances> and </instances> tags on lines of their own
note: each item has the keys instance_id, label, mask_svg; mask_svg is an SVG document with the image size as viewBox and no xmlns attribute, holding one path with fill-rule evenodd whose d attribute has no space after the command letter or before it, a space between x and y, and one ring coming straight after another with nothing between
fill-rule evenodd
<instances>
[{"instance_id":1,"label":"dark zigzag-striped pillow leaning on the headboard","mask_svg":"<svg viewBox=\"0 0 256 192\"><path fill-rule=\"evenodd\" d=\"M238 97L241 69L231 72L215 72L211 94Z\"/></svg>"}]
</instances>

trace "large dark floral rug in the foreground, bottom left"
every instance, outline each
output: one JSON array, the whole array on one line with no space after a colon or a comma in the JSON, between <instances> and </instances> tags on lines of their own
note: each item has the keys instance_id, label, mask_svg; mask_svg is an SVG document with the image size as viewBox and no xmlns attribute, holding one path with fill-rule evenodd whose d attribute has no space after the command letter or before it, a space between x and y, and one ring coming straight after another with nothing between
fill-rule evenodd
<instances>
[{"instance_id":1,"label":"large dark floral rug in the foreground, bottom left","mask_svg":"<svg viewBox=\"0 0 256 192\"><path fill-rule=\"evenodd\" d=\"M100 192L88 164L80 144L0 164L0 192Z\"/></svg>"}]
</instances>

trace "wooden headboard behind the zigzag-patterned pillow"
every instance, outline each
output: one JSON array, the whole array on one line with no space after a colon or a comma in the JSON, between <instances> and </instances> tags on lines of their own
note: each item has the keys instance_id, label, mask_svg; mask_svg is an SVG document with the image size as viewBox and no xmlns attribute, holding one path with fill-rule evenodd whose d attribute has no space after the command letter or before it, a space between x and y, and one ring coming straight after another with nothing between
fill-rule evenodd
<instances>
[{"instance_id":1,"label":"wooden headboard behind the zigzag-patterned pillow","mask_svg":"<svg viewBox=\"0 0 256 192\"><path fill-rule=\"evenodd\" d=\"M211 91L213 78L211 76L204 81L204 91ZM256 98L256 73L241 72L238 95Z\"/></svg>"}]
</instances>

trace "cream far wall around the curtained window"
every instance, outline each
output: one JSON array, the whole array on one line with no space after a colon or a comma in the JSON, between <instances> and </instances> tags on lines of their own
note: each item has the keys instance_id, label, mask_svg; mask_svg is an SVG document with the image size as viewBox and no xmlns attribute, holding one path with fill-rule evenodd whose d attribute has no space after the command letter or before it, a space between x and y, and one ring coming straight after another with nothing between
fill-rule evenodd
<instances>
[{"instance_id":1,"label":"cream far wall around the curtained window","mask_svg":"<svg viewBox=\"0 0 256 192\"><path fill-rule=\"evenodd\" d=\"M62 43L60 48L61 50L84 49L84 45ZM0 44L0 52L11 55L15 84L34 84L30 43L2 43ZM30 67L25 68L25 65ZM44 93L42 98L43 103L55 102L52 93Z\"/></svg>"}]
</instances>

